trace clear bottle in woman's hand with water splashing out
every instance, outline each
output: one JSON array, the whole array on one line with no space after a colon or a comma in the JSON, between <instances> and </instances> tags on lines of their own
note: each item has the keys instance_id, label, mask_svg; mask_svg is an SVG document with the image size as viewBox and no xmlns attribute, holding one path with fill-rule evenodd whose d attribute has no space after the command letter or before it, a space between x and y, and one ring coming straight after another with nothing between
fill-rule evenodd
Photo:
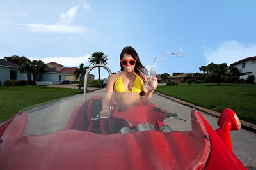
<instances>
[{"instance_id":1,"label":"clear bottle in woman's hand with water splashing out","mask_svg":"<svg viewBox=\"0 0 256 170\"><path fill-rule=\"evenodd\" d=\"M183 45L180 45L180 53L173 53L173 52L169 52L168 50L165 50L164 52L164 56L163 57L160 57L160 58L154 58L154 66L151 67L151 69L148 71L147 73L147 82L145 84L145 87L148 89L148 90L152 90L153 87L148 87L148 81L152 80L152 78L154 78L154 76L156 75L156 71L155 71L155 67L156 67L156 62L157 60L163 60L165 59L166 55L169 54L169 55L173 55L175 57L183 57L184 53L182 51L182 46Z\"/></svg>"}]
</instances>

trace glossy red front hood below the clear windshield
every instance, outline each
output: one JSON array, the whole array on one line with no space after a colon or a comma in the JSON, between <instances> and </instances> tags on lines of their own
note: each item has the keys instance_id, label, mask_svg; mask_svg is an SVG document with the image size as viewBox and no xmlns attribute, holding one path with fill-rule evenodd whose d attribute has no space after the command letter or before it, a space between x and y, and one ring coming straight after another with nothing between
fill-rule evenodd
<instances>
[{"instance_id":1,"label":"glossy red front hood below the clear windshield","mask_svg":"<svg viewBox=\"0 0 256 170\"><path fill-rule=\"evenodd\" d=\"M28 136L26 121L26 113L17 115L1 137L0 169L202 169L210 152L209 139L202 136L207 132L200 128L110 135L66 130Z\"/></svg>"}]
</instances>

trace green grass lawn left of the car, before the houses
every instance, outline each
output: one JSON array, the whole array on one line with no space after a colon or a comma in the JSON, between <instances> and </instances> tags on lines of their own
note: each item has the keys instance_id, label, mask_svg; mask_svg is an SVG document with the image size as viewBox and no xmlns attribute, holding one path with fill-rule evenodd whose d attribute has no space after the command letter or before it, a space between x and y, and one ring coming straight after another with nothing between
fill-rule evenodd
<instances>
[{"instance_id":1,"label":"green grass lawn left of the car, before the houses","mask_svg":"<svg viewBox=\"0 0 256 170\"><path fill-rule=\"evenodd\" d=\"M83 90L46 87L45 85L0 87L0 122L8 120L22 108L81 92Z\"/></svg>"}]
</instances>

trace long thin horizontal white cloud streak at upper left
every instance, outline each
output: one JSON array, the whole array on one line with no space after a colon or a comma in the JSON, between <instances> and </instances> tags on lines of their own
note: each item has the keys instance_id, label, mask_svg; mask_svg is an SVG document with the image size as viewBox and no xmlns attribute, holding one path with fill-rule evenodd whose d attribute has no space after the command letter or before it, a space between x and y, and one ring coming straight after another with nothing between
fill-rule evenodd
<instances>
[{"instance_id":1,"label":"long thin horizontal white cloud streak at upper left","mask_svg":"<svg viewBox=\"0 0 256 170\"><path fill-rule=\"evenodd\" d=\"M47 24L16 24L23 26L26 31L40 33L60 33L60 34L79 34L79 33L97 33L92 29L76 27L70 25L47 25Z\"/></svg>"}]
</instances>

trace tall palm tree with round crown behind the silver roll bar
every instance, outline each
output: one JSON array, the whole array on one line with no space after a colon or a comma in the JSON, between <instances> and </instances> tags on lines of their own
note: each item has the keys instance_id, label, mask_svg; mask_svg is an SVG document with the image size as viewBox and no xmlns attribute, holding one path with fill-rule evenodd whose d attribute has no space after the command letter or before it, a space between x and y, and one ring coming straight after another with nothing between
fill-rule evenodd
<instances>
[{"instance_id":1,"label":"tall palm tree with round crown behind the silver roll bar","mask_svg":"<svg viewBox=\"0 0 256 170\"><path fill-rule=\"evenodd\" d=\"M89 66L91 64L95 65L95 64L103 64L103 65L107 65L107 55L104 55L104 53L102 52L94 52L92 53L91 57L89 58ZM99 81L100 81L100 67L98 67L98 73L99 73Z\"/></svg>"}]
</instances>

